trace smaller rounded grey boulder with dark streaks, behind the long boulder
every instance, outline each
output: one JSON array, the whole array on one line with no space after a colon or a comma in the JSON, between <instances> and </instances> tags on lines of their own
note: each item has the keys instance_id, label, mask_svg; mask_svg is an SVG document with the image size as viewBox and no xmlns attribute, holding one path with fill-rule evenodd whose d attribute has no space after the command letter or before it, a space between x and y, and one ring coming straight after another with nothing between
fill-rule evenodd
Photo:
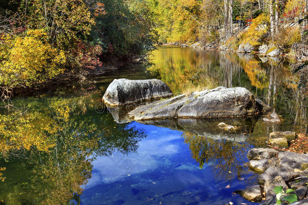
<instances>
[{"instance_id":1,"label":"smaller rounded grey boulder with dark streaks, behind the long boulder","mask_svg":"<svg viewBox=\"0 0 308 205\"><path fill-rule=\"evenodd\" d=\"M109 106L127 105L136 102L168 98L173 94L159 79L129 80L114 79L102 99Z\"/></svg>"}]
</instances>

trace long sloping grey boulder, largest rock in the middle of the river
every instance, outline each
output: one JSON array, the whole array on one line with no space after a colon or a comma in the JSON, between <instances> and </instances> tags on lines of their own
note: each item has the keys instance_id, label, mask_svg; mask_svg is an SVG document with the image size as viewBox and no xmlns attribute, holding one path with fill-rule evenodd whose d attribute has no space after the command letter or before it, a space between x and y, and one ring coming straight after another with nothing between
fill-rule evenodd
<instances>
[{"instance_id":1,"label":"long sloping grey boulder, largest rock in the middle of the river","mask_svg":"<svg viewBox=\"0 0 308 205\"><path fill-rule=\"evenodd\" d=\"M129 112L132 120L220 118L256 114L265 109L245 88L218 87L141 105Z\"/></svg>"}]
</instances>

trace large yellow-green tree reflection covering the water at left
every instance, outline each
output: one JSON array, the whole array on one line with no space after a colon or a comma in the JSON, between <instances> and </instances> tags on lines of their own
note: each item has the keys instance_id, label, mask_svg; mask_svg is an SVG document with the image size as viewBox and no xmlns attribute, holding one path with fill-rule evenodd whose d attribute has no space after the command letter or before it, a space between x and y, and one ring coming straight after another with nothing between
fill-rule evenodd
<instances>
[{"instance_id":1,"label":"large yellow-green tree reflection covering the water at left","mask_svg":"<svg viewBox=\"0 0 308 205\"><path fill-rule=\"evenodd\" d=\"M7 161L0 167L8 166L0 188L2 202L64 204L78 199L95 157L136 151L144 132L116 124L85 100L53 98L40 109L30 105L26 112L11 109L0 115L0 151Z\"/></svg>"}]
</instances>

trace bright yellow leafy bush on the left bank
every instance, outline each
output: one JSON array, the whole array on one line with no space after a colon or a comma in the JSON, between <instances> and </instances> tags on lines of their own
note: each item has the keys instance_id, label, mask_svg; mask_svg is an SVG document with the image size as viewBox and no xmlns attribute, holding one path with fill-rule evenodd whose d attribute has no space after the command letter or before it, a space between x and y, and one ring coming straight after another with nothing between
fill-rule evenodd
<instances>
[{"instance_id":1,"label":"bright yellow leafy bush on the left bank","mask_svg":"<svg viewBox=\"0 0 308 205\"><path fill-rule=\"evenodd\" d=\"M65 53L47 43L47 37L42 29L28 30L26 36L15 39L5 36L0 49L0 84L30 86L62 73Z\"/></svg>"}]
</instances>

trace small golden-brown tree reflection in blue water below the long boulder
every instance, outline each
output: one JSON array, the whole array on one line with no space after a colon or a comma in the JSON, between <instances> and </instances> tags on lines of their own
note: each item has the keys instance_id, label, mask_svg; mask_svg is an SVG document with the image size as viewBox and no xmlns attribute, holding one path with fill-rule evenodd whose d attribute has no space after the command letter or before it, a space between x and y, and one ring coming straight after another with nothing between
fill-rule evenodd
<instances>
[{"instance_id":1,"label":"small golden-brown tree reflection in blue water below the long boulder","mask_svg":"<svg viewBox=\"0 0 308 205\"><path fill-rule=\"evenodd\" d=\"M191 157L199 163L200 169L204 163L208 163L217 179L231 180L234 177L240 179L249 172L247 166L244 166L247 159L243 157L251 148L248 143L214 140L187 132L183 133L183 138L189 146ZM249 183L249 179L245 181Z\"/></svg>"}]
</instances>

